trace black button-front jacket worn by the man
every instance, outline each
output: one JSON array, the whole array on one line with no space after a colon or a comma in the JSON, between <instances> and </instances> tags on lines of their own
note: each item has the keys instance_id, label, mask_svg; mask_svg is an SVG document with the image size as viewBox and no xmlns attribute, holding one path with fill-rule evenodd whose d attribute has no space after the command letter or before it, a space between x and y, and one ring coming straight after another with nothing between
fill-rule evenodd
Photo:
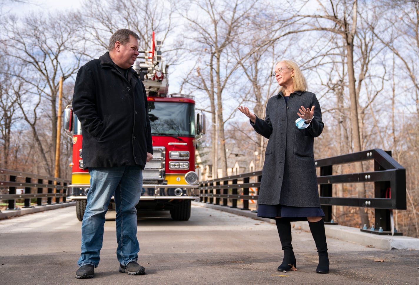
<instances>
[{"instance_id":1,"label":"black button-front jacket worn by the man","mask_svg":"<svg viewBox=\"0 0 419 285\"><path fill-rule=\"evenodd\" d=\"M77 73L73 110L82 125L83 167L141 166L153 153L147 96L137 73L127 78L109 52Z\"/></svg>"}]
</instances>

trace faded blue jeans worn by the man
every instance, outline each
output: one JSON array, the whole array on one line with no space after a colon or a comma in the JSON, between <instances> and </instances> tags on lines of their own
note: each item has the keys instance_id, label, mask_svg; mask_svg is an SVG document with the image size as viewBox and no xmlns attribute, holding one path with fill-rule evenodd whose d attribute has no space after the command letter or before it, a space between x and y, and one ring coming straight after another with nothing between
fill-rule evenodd
<instances>
[{"instance_id":1,"label":"faded blue jeans worn by the man","mask_svg":"<svg viewBox=\"0 0 419 285\"><path fill-rule=\"evenodd\" d=\"M81 256L77 264L99 264L103 242L103 225L111 197L116 207L116 256L127 265L137 261L140 246L137 240L137 205L142 190L142 169L139 166L89 168L90 189L81 225Z\"/></svg>"}]
</instances>

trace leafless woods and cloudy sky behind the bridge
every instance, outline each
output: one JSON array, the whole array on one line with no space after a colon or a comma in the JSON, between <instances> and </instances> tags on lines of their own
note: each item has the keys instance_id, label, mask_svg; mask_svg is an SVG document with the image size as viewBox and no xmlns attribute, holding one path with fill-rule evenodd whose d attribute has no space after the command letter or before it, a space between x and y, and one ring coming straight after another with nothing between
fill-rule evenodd
<instances>
[{"instance_id":1,"label":"leafless woods and cloudy sky behind the bridge","mask_svg":"<svg viewBox=\"0 0 419 285\"><path fill-rule=\"evenodd\" d=\"M315 157L391 150L407 180L407 210L396 211L396 228L419 237L417 0L89 0L19 15L13 2L24 1L0 1L0 168L53 175L59 77L65 107L78 69L106 51L111 34L131 29L140 49L149 49L155 31L175 86L169 93L194 95L207 114L200 147L214 169L227 174L226 144L257 153L261 169L267 141L237 107L264 118L279 89L274 65L292 59L323 112ZM61 140L60 176L70 179L71 140L64 133ZM334 171L371 169L354 163ZM334 196L373 197L373 185L336 185ZM334 207L334 220L370 225L373 212Z\"/></svg>"}]
</instances>

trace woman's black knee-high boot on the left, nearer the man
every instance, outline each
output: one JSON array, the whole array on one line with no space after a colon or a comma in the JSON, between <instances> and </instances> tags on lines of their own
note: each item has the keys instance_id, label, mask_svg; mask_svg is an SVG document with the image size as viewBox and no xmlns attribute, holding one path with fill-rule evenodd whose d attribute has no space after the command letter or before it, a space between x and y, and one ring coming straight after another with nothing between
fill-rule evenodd
<instances>
[{"instance_id":1,"label":"woman's black knee-high boot on the left, nearer the man","mask_svg":"<svg viewBox=\"0 0 419 285\"><path fill-rule=\"evenodd\" d=\"M291 267L297 267L295 262L294 251L291 245L291 223L284 218L275 220L277 224L279 240L281 241L282 250L284 251L284 259L278 267L278 271L288 271Z\"/></svg>"}]
</instances>

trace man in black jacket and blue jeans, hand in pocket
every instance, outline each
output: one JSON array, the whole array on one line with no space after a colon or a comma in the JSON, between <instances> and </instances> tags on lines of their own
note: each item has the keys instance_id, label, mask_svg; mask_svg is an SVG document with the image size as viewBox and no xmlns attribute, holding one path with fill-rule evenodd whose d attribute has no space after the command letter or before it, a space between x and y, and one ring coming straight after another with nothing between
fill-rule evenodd
<instances>
[{"instance_id":1,"label":"man in black jacket and blue jeans, hand in pocket","mask_svg":"<svg viewBox=\"0 0 419 285\"><path fill-rule=\"evenodd\" d=\"M142 192L142 169L153 158L153 146L145 88L131 67L139 39L133 31L116 31L109 52L80 67L77 74L72 106L82 125L83 167L91 176L77 278L92 278L99 264L103 224L112 196L119 272L145 274L137 263L135 205Z\"/></svg>"}]
</instances>

